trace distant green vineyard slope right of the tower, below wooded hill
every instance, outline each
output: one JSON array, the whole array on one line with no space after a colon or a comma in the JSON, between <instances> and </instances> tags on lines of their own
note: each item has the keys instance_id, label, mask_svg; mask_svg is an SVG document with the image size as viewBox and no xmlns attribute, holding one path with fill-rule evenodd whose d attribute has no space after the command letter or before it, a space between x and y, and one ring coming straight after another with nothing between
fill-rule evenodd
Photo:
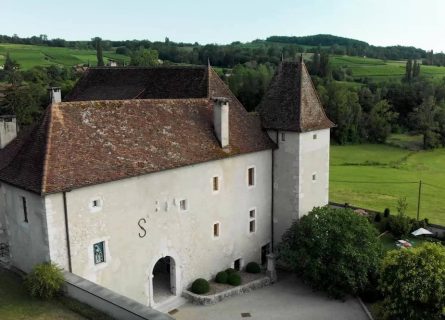
<instances>
[{"instance_id":1,"label":"distant green vineyard slope right of the tower, below wooded hill","mask_svg":"<svg viewBox=\"0 0 445 320\"><path fill-rule=\"evenodd\" d=\"M346 66L352 70L354 78L370 78L373 80L400 80L405 75L406 61L384 61L380 59L333 56L331 63L334 67ZM420 74L442 79L445 77L445 67L421 66Z\"/></svg>"}]
</instances>

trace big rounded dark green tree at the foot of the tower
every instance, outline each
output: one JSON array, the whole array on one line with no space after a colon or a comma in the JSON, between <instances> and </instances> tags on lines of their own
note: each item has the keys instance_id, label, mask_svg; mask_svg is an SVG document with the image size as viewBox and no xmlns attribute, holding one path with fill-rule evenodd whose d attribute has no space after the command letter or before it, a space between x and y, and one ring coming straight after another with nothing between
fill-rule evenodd
<instances>
[{"instance_id":1,"label":"big rounded dark green tree at the foot of the tower","mask_svg":"<svg viewBox=\"0 0 445 320\"><path fill-rule=\"evenodd\" d=\"M350 209L314 208L295 221L278 246L279 259L333 297L358 294L381 257L377 231Z\"/></svg>"}]
</instances>

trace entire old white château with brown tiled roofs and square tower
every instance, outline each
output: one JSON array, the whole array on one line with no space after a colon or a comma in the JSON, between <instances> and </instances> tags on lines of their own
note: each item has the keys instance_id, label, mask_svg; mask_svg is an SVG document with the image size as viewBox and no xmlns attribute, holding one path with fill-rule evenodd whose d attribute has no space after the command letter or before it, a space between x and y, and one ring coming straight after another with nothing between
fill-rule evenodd
<instances>
[{"instance_id":1,"label":"entire old white ch\u00e2teau with brown tiled roofs and square tower","mask_svg":"<svg viewBox=\"0 0 445 320\"><path fill-rule=\"evenodd\" d=\"M198 278L264 263L328 203L329 131L304 63L246 112L211 67L90 68L17 135L0 119L11 263L42 261L159 307Z\"/></svg>"}]
</instances>

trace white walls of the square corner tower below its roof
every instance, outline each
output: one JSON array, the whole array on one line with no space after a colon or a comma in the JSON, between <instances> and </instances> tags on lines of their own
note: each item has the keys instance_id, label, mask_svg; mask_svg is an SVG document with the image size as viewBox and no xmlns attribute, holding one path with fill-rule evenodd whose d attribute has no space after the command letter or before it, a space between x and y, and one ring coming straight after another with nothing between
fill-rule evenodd
<instances>
[{"instance_id":1,"label":"white walls of the square corner tower below its roof","mask_svg":"<svg viewBox=\"0 0 445 320\"><path fill-rule=\"evenodd\" d=\"M328 204L329 129L306 133L279 131L278 135L271 130L268 134L278 145L274 151L273 184L274 243L278 244L294 220L315 206Z\"/></svg>"}]
</instances>

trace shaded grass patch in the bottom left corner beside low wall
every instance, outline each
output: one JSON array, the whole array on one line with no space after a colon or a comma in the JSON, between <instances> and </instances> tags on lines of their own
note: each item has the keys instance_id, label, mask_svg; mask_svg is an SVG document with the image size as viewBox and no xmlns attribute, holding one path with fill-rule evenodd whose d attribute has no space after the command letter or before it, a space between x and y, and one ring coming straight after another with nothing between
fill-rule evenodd
<instances>
[{"instance_id":1,"label":"shaded grass patch in the bottom left corner beside low wall","mask_svg":"<svg viewBox=\"0 0 445 320\"><path fill-rule=\"evenodd\" d=\"M0 268L0 319L83 320L57 300L30 298L16 274Z\"/></svg>"}]
</instances>

